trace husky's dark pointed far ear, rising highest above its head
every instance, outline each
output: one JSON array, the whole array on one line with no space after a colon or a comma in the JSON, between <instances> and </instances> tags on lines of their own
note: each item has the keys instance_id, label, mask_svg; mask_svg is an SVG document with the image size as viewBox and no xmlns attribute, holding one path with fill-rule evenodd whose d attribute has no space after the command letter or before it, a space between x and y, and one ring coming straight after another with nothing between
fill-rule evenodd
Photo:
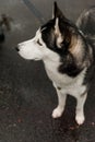
<instances>
[{"instance_id":1,"label":"husky's dark pointed far ear, rising highest above its head","mask_svg":"<svg viewBox=\"0 0 95 142\"><path fill-rule=\"evenodd\" d=\"M62 14L61 10L58 8L57 2L54 2L54 8L52 8L52 19L66 19L64 15Z\"/></svg>"}]
</instances>

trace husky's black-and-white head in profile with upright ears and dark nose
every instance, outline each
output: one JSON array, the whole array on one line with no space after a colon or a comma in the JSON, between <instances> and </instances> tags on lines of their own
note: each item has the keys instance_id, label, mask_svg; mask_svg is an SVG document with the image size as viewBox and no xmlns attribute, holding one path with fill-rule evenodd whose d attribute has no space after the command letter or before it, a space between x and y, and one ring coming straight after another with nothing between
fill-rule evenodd
<instances>
[{"instance_id":1,"label":"husky's black-and-white head in profile with upright ears and dark nose","mask_svg":"<svg viewBox=\"0 0 95 142\"><path fill-rule=\"evenodd\" d=\"M28 60L54 59L74 51L76 27L54 4L52 19L40 26L34 38L17 45L19 54Z\"/></svg>"}]
</instances>

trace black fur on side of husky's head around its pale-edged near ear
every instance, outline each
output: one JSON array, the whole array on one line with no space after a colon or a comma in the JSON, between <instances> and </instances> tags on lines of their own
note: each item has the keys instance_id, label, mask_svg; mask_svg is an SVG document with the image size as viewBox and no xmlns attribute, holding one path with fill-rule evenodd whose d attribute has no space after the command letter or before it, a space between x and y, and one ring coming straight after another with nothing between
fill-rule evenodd
<instances>
[{"instance_id":1,"label":"black fur on side of husky's head around its pale-edged near ear","mask_svg":"<svg viewBox=\"0 0 95 142\"><path fill-rule=\"evenodd\" d=\"M60 43L60 47L57 45L57 36L55 34L55 22L56 20L50 20L47 24L43 25L41 31L41 38L47 45L47 48L58 52L59 55L63 56L66 50L68 50L70 43L71 43L71 34L67 25L60 22L59 27L61 34L63 34L63 42ZM44 29L45 28L45 29ZM44 29L44 31L43 31Z\"/></svg>"}]
</instances>

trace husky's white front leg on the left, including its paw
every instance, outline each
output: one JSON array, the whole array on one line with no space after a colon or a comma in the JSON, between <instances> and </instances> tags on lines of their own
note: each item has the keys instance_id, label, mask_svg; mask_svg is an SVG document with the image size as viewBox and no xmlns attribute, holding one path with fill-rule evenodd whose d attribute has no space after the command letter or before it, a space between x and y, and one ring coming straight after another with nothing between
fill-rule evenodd
<instances>
[{"instance_id":1,"label":"husky's white front leg on the left, including its paw","mask_svg":"<svg viewBox=\"0 0 95 142\"><path fill-rule=\"evenodd\" d=\"M56 87L56 85L55 85ZM56 87L57 94L58 94L58 106L52 111L52 118L59 118L61 117L64 106L66 106L66 99L67 94L62 93L61 88Z\"/></svg>"}]
</instances>

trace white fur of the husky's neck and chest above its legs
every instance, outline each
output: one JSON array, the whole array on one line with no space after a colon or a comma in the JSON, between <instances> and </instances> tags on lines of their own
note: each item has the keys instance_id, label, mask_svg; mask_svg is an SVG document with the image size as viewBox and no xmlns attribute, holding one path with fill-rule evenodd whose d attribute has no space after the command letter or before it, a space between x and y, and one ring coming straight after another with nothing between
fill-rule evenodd
<instances>
[{"instance_id":1,"label":"white fur of the husky's neck and chest above its legs","mask_svg":"<svg viewBox=\"0 0 95 142\"><path fill-rule=\"evenodd\" d=\"M45 69L52 81L55 86L60 86L64 93L76 95L82 94L85 91L85 86L83 85L83 80L85 76L86 69L84 69L76 78L70 78L67 74L61 74L58 72L59 64L52 61L46 61Z\"/></svg>"}]
</instances>

